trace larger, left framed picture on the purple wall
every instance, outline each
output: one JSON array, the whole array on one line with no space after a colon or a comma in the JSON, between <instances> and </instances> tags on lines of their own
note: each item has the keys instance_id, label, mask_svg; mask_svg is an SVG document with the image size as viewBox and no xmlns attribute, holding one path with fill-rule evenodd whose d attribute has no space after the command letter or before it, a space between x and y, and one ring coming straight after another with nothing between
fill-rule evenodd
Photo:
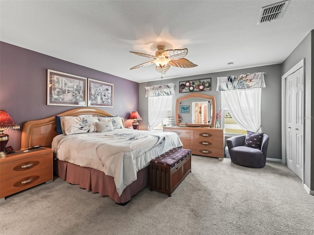
<instances>
[{"instance_id":1,"label":"larger, left framed picture on the purple wall","mask_svg":"<svg viewBox=\"0 0 314 235\"><path fill-rule=\"evenodd\" d=\"M47 105L86 106L87 78L48 70Z\"/></svg>"}]
</instances>

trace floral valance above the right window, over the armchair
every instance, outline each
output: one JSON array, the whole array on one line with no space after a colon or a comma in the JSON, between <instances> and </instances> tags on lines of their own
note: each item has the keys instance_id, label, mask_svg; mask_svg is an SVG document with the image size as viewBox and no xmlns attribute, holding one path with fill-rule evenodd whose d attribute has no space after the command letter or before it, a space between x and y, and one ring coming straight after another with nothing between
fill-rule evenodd
<instances>
[{"instance_id":1,"label":"floral valance above the right window, over the armchair","mask_svg":"<svg viewBox=\"0 0 314 235\"><path fill-rule=\"evenodd\" d=\"M240 76L217 77L217 91L263 88L265 72L254 72Z\"/></svg>"}]
</instances>

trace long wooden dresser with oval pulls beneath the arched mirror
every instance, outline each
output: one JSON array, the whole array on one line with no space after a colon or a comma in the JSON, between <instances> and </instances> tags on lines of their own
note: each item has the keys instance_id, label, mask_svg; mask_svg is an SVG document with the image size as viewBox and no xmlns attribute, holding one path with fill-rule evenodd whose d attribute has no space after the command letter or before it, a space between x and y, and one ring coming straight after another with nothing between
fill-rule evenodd
<instances>
[{"instance_id":1,"label":"long wooden dresser with oval pulls beneath the arched mirror","mask_svg":"<svg viewBox=\"0 0 314 235\"><path fill-rule=\"evenodd\" d=\"M167 126L163 131L176 132L183 143L194 155L224 157L224 133L220 128Z\"/></svg>"}]
</instances>

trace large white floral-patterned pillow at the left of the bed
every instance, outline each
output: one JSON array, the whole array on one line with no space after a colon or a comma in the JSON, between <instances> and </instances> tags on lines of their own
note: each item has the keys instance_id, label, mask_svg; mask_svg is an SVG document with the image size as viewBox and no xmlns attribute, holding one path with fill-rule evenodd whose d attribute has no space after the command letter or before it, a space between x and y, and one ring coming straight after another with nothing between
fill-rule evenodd
<instances>
[{"instance_id":1,"label":"large white floral-patterned pillow at the left of the bed","mask_svg":"<svg viewBox=\"0 0 314 235\"><path fill-rule=\"evenodd\" d=\"M61 117L61 128L64 135L81 134L96 132L96 122L98 118L94 117Z\"/></svg>"}]
</instances>

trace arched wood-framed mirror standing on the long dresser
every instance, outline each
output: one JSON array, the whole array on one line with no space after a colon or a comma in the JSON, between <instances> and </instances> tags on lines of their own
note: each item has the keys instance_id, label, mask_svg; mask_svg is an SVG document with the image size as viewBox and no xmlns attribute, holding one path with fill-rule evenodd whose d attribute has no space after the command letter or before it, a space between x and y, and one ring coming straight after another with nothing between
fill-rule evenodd
<instances>
[{"instance_id":1,"label":"arched wood-framed mirror standing on the long dresser","mask_svg":"<svg viewBox=\"0 0 314 235\"><path fill-rule=\"evenodd\" d=\"M176 101L176 125L211 126L215 124L215 96L187 94Z\"/></svg>"}]
</instances>

